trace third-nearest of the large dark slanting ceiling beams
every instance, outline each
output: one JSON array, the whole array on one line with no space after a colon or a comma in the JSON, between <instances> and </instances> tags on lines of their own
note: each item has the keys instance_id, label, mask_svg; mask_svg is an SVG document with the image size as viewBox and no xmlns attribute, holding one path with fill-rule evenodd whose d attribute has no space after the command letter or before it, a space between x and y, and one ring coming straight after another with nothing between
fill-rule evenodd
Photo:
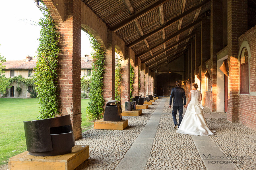
<instances>
[{"instance_id":1,"label":"third-nearest of the large dark slanting ceiling beams","mask_svg":"<svg viewBox=\"0 0 256 170\"><path fill-rule=\"evenodd\" d=\"M192 24L189 24L189 25L185 26L185 27L182 28L181 30L179 30L179 31L173 33L172 35L170 35L168 38L162 40L161 42L159 42L158 44L156 44L156 45L154 45L154 46L148 48L147 50L144 50L143 52L141 52L140 54L138 54L138 55L136 55L136 56L137 56L137 57L143 56L144 54L148 53L150 50L156 49L157 47L161 46L162 44L164 44L164 43L166 43L166 42L168 42L168 41L170 41L170 40L172 40L172 39L175 38L177 35L179 35L179 34L185 32L185 31L187 31L187 29L189 29L189 28L195 26L196 24L199 24L200 22L201 22L201 21L198 20L198 21L196 21L196 22L194 22L194 23L192 23ZM187 38L190 38L190 36L188 36Z\"/></svg>"}]
</instances>

